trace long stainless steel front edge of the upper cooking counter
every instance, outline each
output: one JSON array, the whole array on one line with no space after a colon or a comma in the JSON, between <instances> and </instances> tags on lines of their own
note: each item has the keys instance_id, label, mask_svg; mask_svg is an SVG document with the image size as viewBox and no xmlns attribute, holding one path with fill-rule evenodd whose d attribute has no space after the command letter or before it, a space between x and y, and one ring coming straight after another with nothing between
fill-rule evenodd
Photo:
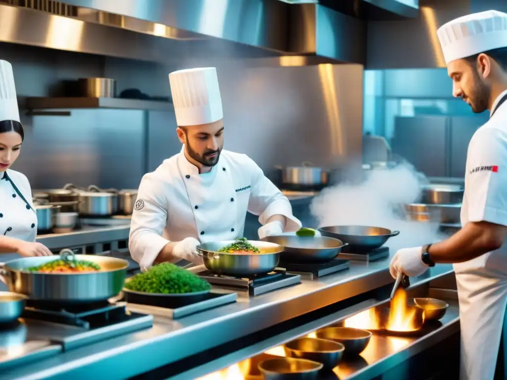
<instances>
[{"instance_id":1,"label":"long stainless steel front edge of the upper cooking counter","mask_svg":"<svg viewBox=\"0 0 507 380\"><path fill-rule=\"evenodd\" d=\"M2 373L2 378L85 378L104 371L111 379L127 378L392 283L388 265L389 258L352 263L344 272L303 279L299 285L256 297L239 293L236 303L174 321L155 315L150 329L27 364ZM451 265L437 265L412 284L449 272Z\"/></svg>"}]
</instances>

